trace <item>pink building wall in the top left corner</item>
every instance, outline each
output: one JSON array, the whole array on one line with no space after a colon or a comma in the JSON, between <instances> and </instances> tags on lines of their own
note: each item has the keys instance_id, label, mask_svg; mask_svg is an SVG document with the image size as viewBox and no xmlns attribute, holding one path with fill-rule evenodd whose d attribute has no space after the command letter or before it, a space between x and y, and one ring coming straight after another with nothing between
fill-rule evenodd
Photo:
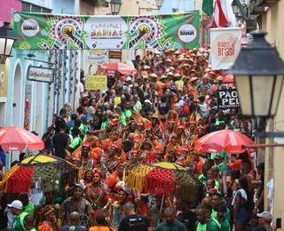
<instances>
[{"instance_id":1,"label":"pink building wall in the top left corner","mask_svg":"<svg viewBox=\"0 0 284 231\"><path fill-rule=\"evenodd\" d=\"M21 2L18 0L0 0L0 21L11 21L12 8L14 11L21 12Z\"/></svg>"}]
</instances>

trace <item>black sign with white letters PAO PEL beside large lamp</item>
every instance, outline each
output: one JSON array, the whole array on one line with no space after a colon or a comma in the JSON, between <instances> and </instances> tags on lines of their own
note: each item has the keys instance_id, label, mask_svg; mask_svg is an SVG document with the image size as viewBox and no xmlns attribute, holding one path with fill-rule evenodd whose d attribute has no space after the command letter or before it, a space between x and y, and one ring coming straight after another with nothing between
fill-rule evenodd
<instances>
[{"instance_id":1,"label":"black sign with white letters PAO PEL beside large lamp","mask_svg":"<svg viewBox=\"0 0 284 231\"><path fill-rule=\"evenodd\" d=\"M239 108L240 101L236 90L219 90L217 91L218 109Z\"/></svg>"}]
</instances>

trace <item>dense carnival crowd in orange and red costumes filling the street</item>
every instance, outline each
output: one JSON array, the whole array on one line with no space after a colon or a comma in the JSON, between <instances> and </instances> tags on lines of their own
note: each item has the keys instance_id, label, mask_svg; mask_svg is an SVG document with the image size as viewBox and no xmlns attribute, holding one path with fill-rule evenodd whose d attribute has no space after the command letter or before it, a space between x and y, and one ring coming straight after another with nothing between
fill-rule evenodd
<instances>
[{"instance_id":1,"label":"dense carnival crowd in orange and red costumes filling the street","mask_svg":"<svg viewBox=\"0 0 284 231\"><path fill-rule=\"evenodd\" d=\"M78 167L57 190L2 196L9 230L272 230L264 211L264 163L256 154L198 152L212 131L241 131L251 123L238 108L219 110L217 90L233 89L209 68L209 50L169 49L138 55L138 74L107 75L107 91L81 91L81 106L66 104L43 134L40 155ZM84 75L81 72L81 89ZM195 200L138 192L129 172L147 163L176 163L203 184ZM53 182L54 183L54 182ZM35 186L31 186L35 187ZM39 188L40 190L40 188ZM188 197L189 198L189 197Z\"/></svg>"}]
</instances>

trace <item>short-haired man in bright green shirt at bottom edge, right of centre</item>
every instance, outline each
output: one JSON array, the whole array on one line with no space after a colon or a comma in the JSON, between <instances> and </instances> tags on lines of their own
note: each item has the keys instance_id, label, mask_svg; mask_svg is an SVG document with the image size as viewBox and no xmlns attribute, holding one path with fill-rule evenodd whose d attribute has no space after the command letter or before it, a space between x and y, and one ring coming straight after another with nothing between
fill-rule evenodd
<instances>
[{"instance_id":1,"label":"short-haired man in bright green shirt at bottom edge, right of centre","mask_svg":"<svg viewBox=\"0 0 284 231\"><path fill-rule=\"evenodd\" d=\"M215 220L208 218L204 205L199 205L195 209L196 231L218 231L219 227Z\"/></svg>"}]
</instances>

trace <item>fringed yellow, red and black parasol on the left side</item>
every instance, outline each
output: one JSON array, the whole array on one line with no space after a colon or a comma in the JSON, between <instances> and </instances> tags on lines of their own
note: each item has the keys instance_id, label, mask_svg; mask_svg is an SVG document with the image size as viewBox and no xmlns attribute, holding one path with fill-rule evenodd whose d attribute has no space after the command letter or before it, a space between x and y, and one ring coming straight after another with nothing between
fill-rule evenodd
<instances>
[{"instance_id":1,"label":"fringed yellow, red and black parasol on the left side","mask_svg":"<svg viewBox=\"0 0 284 231\"><path fill-rule=\"evenodd\" d=\"M73 174L76 179L77 170L75 165L56 156L31 156L4 173L0 188L4 188L5 193L28 192L31 183L41 179L43 192L48 192L54 190L51 182L60 179L65 173Z\"/></svg>"}]
</instances>

